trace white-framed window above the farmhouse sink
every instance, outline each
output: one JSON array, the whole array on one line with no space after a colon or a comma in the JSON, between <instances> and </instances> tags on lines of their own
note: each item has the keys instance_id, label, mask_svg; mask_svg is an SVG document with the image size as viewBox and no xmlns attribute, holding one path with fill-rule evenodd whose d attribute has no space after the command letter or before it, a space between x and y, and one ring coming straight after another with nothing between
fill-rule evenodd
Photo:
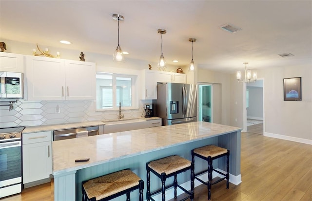
<instances>
[{"instance_id":1,"label":"white-framed window above the farmhouse sink","mask_svg":"<svg viewBox=\"0 0 312 201\"><path fill-rule=\"evenodd\" d=\"M136 76L97 72L97 110L132 109Z\"/></svg>"}]
</instances>

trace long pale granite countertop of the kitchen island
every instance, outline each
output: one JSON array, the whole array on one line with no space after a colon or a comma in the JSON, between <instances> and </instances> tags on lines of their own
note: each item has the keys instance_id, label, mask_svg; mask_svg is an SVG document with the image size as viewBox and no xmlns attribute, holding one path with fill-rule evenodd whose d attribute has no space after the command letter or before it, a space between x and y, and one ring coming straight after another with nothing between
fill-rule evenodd
<instances>
[{"instance_id":1,"label":"long pale granite countertop of the kitchen island","mask_svg":"<svg viewBox=\"0 0 312 201\"><path fill-rule=\"evenodd\" d=\"M238 127L196 121L53 141L53 175L240 130ZM78 158L90 158L90 161L77 163L75 159Z\"/></svg>"}]
</instances>

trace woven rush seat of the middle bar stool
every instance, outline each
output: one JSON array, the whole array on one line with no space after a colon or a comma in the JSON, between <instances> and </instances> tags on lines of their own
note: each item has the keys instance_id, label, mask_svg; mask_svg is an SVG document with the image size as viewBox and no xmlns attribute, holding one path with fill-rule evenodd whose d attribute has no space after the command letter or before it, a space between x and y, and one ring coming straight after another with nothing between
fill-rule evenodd
<instances>
[{"instance_id":1,"label":"woven rush seat of the middle bar stool","mask_svg":"<svg viewBox=\"0 0 312 201\"><path fill-rule=\"evenodd\" d=\"M181 169L190 167L191 161L174 155L156 161L151 161L148 166L155 170L159 175L161 173L169 175Z\"/></svg>"}]
</instances>

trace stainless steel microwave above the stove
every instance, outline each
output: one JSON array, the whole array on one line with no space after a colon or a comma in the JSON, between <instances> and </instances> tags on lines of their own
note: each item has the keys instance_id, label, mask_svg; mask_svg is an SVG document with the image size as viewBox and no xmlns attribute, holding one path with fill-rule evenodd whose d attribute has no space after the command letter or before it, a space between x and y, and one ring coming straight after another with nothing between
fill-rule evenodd
<instances>
[{"instance_id":1,"label":"stainless steel microwave above the stove","mask_svg":"<svg viewBox=\"0 0 312 201\"><path fill-rule=\"evenodd\" d=\"M23 98L23 74L0 71L0 99Z\"/></svg>"}]
</instances>

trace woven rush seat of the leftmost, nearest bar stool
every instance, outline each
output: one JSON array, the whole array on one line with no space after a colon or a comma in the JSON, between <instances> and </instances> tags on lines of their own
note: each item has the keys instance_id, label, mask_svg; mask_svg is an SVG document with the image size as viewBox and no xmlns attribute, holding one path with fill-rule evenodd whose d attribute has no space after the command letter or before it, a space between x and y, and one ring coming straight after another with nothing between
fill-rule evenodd
<instances>
[{"instance_id":1,"label":"woven rush seat of the leftmost, nearest bar stool","mask_svg":"<svg viewBox=\"0 0 312 201\"><path fill-rule=\"evenodd\" d=\"M85 181L82 188L87 197L92 198L90 200L95 198L99 201L134 187L139 188L140 182L143 181L135 173L126 169Z\"/></svg>"}]
</instances>

